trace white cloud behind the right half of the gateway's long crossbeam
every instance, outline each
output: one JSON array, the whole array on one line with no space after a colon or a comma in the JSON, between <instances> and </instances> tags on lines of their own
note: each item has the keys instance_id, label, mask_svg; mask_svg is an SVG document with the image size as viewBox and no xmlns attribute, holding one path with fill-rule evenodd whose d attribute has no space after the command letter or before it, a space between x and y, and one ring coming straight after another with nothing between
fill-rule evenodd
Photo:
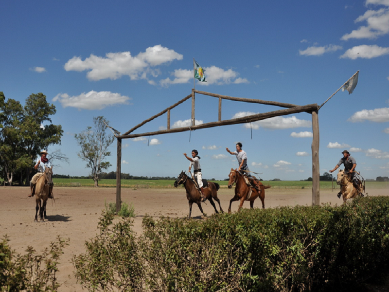
<instances>
[{"instance_id":1,"label":"white cloud behind the right half of the gateway's long crossbeam","mask_svg":"<svg viewBox=\"0 0 389 292\"><path fill-rule=\"evenodd\" d=\"M233 119L246 117L249 115L253 115L255 112L251 111L240 111L234 114L232 117ZM312 122L307 120L300 120L296 118L295 116L284 118L284 117L274 117L265 119L262 121L252 122L244 124L245 128L253 128L253 129L259 129L259 128L268 128L268 129L289 129L289 128L310 128L312 127Z\"/></svg>"}]
</instances>

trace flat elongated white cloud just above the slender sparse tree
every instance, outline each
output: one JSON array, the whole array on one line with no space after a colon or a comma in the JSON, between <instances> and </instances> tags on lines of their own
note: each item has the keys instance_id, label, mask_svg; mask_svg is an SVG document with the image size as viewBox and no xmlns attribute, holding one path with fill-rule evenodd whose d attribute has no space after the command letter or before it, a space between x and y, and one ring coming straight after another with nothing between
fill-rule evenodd
<instances>
[{"instance_id":1,"label":"flat elongated white cloud just above the slender sparse tree","mask_svg":"<svg viewBox=\"0 0 389 292\"><path fill-rule=\"evenodd\" d=\"M73 107L84 110L102 110L107 106L128 104L128 96L110 91L89 91L80 95L69 96L67 93L59 93L53 101L59 101L62 107Z\"/></svg>"}]
</instances>

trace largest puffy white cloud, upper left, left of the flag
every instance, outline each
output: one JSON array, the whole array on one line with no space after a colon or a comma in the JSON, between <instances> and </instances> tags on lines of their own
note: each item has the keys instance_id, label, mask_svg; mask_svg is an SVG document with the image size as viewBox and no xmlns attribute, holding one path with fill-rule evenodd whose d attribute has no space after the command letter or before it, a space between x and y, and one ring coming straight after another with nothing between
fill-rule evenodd
<instances>
[{"instance_id":1,"label":"largest puffy white cloud, upper left, left of the flag","mask_svg":"<svg viewBox=\"0 0 389 292\"><path fill-rule=\"evenodd\" d=\"M88 71L89 80L118 79L128 75L131 80L146 79L151 75L157 77L160 72L152 67L182 60L183 56L174 50L156 45L149 47L145 52L132 56L130 52L107 53L105 57L91 54L84 61L74 56L66 62L66 71Z\"/></svg>"}]
</instances>

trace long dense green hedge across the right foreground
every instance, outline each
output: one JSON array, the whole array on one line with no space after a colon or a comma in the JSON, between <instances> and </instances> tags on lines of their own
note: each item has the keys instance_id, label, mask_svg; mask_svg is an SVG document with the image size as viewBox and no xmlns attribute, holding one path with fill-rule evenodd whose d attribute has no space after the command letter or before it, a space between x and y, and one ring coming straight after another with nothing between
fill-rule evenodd
<instances>
[{"instance_id":1,"label":"long dense green hedge across the right foreground","mask_svg":"<svg viewBox=\"0 0 389 292\"><path fill-rule=\"evenodd\" d=\"M105 214L74 263L88 290L346 291L387 267L388 216L389 197L368 197L206 220L146 217L136 238L130 221Z\"/></svg>"}]
</instances>

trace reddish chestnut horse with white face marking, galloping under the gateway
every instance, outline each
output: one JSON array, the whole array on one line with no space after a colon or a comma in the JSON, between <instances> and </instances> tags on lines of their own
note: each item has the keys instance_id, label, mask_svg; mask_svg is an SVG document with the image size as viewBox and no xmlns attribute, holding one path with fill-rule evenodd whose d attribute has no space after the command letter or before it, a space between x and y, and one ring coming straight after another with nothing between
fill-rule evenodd
<instances>
[{"instance_id":1,"label":"reddish chestnut horse with white face marking, galloping under the gateway","mask_svg":"<svg viewBox=\"0 0 389 292\"><path fill-rule=\"evenodd\" d=\"M261 190L258 192L255 187L248 187L243 175L238 170L234 170L233 168L231 168L229 178L230 180L228 182L228 188L231 188L232 185L235 183L235 196L230 200L228 213L231 213L231 203L233 201L240 200L238 208L238 211L240 211L240 209L242 209L244 201L250 201L250 208L252 209L254 205L254 200L258 197L262 201L262 208L265 209L265 189L270 188L270 185L265 186L260 181L258 181L258 185L261 188Z\"/></svg>"}]
</instances>

